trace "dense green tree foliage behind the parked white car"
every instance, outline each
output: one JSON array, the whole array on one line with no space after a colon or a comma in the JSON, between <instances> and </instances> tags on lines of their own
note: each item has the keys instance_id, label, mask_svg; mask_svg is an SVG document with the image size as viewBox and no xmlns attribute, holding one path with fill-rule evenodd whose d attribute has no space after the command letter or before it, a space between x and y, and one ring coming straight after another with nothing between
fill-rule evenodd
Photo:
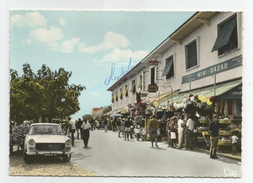
<instances>
[{"instance_id":1,"label":"dense green tree foliage behind the parked white car","mask_svg":"<svg viewBox=\"0 0 253 183\"><path fill-rule=\"evenodd\" d=\"M23 75L10 70L10 118L21 123L24 119L65 118L80 110L78 96L85 86L69 85L72 73L59 68L51 71L42 65L37 75L29 64L23 65Z\"/></svg>"}]
</instances>

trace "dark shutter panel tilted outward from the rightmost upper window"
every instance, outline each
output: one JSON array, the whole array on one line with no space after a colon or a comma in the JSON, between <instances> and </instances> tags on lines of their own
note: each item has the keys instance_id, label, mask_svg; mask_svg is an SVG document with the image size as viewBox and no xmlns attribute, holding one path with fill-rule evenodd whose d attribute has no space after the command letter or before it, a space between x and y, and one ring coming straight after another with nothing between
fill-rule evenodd
<instances>
[{"instance_id":1,"label":"dark shutter panel tilted outward from the rightmost upper window","mask_svg":"<svg viewBox=\"0 0 253 183\"><path fill-rule=\"evenodd\" d=\"M220 30L218 33L218 37L216 38L216 41L213 45L212 52L228 44L232 32L235 28L235 25L236 25L236 16L234 16L229 21L219 26Z\"/></svg>"}]
</instances>

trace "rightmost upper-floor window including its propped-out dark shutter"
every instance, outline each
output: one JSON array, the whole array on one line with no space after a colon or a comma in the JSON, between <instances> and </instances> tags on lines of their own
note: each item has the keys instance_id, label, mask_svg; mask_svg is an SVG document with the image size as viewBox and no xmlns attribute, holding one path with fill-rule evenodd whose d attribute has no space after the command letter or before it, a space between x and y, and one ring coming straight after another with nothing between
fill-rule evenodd
<instances>
[{"instance_id":1,"label":"rightmost upper-floor window including its propped-out dark shutter","mask_svg":"<svg viewBox=\"0 0 253 183\"><path fill-rule=\"evenodd\" d=\"M212 52L218 50L218 55L222 55L236 48L238 48L237 16L234 15L218 25L218 36Z\"/></svg>"}]
</instances>

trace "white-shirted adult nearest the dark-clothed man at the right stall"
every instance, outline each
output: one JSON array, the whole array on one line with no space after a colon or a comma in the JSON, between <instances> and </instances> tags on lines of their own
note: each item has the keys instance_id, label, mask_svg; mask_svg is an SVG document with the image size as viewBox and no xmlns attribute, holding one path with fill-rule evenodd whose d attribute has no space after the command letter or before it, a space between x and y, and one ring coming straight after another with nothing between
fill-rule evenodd
<instances>
[{"instance_id":1,"label":"white-shirted adult nearest the dark-clothed man at the right stall","mask_svg":"<svg viewBox=\"0 0 253 183\"><path fill-rule=\"evenodd\" d=\"M192 114L188 115L188 120L185 128L185 150L192 150L192 138L193 138L194 121L192 120Z\"/></svg>"}]
</instances>

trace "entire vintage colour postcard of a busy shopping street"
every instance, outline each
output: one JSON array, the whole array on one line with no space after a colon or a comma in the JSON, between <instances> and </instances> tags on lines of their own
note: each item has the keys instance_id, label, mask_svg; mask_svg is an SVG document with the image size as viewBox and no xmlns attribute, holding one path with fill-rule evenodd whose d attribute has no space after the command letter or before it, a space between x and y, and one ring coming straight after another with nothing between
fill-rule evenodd
<instances>
[{"instance_id":1,"label":"entire vintage colour postcard of a busy shopping street","mask_svg":"<svg viewBox=\"0 0 253 183\"><path fill-rule=\"evenodd\" d=\"M243 12L10 11L10 176L241 178Z\"/></svg>"}]
</instances>

